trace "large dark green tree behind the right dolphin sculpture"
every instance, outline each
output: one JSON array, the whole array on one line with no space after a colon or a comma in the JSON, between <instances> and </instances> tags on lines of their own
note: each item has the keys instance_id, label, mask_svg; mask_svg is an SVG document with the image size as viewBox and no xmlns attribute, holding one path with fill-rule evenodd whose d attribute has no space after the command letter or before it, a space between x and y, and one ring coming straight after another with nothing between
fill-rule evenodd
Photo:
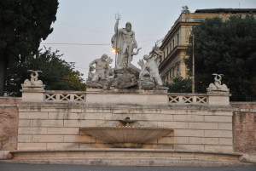
<instances>
[{"instance_id":1,"label":"large dark green tree behind the right dolphin sculpture","mask_svg":"<svg viewBox=\"0 0 256 171\"><path fill-rule=\"evenodd\" d=\"M256 20L253 16L206 19L193 27L191 35L195 38L197 92L205 92L213 82L212 73L218 73L224 74L223 83L230 88L231 100L255 95L252 83L256 78ZM192 56L191 36L187 54ZM192 71L192 59L185 59L185 64Z\"/></svg>"}]
</instances>

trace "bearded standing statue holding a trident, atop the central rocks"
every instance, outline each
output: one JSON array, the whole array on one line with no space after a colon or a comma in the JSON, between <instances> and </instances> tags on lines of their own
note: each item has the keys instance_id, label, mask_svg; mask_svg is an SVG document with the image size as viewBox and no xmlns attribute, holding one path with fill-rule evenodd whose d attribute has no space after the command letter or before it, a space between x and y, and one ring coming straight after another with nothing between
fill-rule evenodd
<instances>
[{"instance_id":1,"label":"bearded standing statue holding a trident, atop the central rocks","mask_svg":"<svg viewBox=\"0 0 256 171\"><path fill-rule=\"evenodd\" d=\"M116 17L116 23L114 26L114 35L111 38L112 48L117 53L116 68L123 69L127 66L131 66L132 56L138 54L140 48L134 53L133 49L137 48L137 41L135 39L135 32L131 30L131 23L127 22L125 28L118 29L119 26L119 14Z\"/></svg>"}]
</instances>

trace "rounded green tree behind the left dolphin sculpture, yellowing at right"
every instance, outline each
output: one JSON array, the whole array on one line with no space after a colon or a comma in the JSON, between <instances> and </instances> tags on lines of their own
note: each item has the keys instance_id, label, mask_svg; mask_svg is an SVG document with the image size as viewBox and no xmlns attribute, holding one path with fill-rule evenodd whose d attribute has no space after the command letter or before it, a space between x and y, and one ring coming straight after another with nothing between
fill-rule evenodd
<instances>
[{"instance_id":1,"label":"rounded green tree behind the left dolphin sculpture, yellowing at right","mask_svg":"<svg viewBox=\"0 0 256 171\"><path fill-rule=\"evenodd\" d=\"M62 54L51 49L42 49L36 55L29 55L24 62L12 61L7 70L7 86L5 91L20 94L20 86L26 79L30 79L28 70L43 71L38 79L45 84L48 90L81 90L85 83L79 71L73 70L73 63L61 60Z\"/></svg>"}]
</instances>

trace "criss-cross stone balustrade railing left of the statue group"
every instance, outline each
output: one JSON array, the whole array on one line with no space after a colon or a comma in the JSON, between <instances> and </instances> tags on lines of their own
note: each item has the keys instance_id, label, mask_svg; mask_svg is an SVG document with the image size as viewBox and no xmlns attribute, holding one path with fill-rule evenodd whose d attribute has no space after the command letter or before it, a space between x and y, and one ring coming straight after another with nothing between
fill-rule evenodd
<instances>
[{"instance_id":1,"label":"criss-cross stone balustrade railing left of the statue group","mask_svg":"<svg viewBox=\"0 0 256 171\"><path fill-rule=\"evenodd\" d=\"M81 91L46 91L44 101L85 101L85 93Z\"/></svg>"}]
</instances>

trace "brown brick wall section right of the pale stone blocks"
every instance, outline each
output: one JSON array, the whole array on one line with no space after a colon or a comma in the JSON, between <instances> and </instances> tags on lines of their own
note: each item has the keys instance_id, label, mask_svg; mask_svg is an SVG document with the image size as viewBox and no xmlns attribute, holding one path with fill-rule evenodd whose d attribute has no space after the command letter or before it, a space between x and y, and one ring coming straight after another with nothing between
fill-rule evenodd
<instances>
[{"instance_id":1,"label":"brown brick wall section right of the pale stone blocks","mask_svg":"<svg viewBox=\"0 0 256 171\"><path fill-rule=\"evenodd\" d=\"M233 102L234 151L256 153L256 102Z\"/></svg>"}]
</instances>

